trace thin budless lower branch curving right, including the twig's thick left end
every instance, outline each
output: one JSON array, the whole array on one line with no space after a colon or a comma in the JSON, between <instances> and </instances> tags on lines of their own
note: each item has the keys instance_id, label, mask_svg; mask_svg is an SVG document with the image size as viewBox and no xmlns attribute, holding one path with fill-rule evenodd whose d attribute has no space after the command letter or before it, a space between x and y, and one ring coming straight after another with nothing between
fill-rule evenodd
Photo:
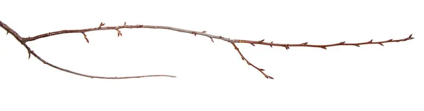
<instances>
[{"instance_id":1,"label":"thin budless lower branch curving right, including the twig's thick left end","mask_svg":"<svg viewBox=\"0 0 424 111\"><path fill-rule=\"evenodd\" d=\"M88 74L81 74L81 73L78 73L78 72L73 72L71 70L66 70L64 68L57 67L56 65L52 65L51 63L48 63L46 60L43 60L39 55L37 55L37 53L34 53L34 51L32 51L31 48L27 44L25 44L26 41L22 37L20 37L20 35L17 32L15 32L15 30L12 30L11 27L8 27L6 24L1 22L1 20L0 20L0 26L4 30L6 30L7 33L11 33L13 35L13 37L15 37L16 40L18 40L20 42L20 44L25 46L25 48L28 50L28 59L30 58L30 54L33 54L34 57L37 58L38 60L40 60L42 63L45 63L46 65L49 65L51 67L54 67L57 70L62 70L64 72L69 72L71 74L77 74L77 75L83 76L83 77L99 78L99 79L129 79L129 78L141 78L141 77L175 77L175 76L165 75L165 74L143 75L143 76L134 76L134 77L100 77L100 76L93 76L93 75L88 75Z\"/></svg>"}]
</instances>

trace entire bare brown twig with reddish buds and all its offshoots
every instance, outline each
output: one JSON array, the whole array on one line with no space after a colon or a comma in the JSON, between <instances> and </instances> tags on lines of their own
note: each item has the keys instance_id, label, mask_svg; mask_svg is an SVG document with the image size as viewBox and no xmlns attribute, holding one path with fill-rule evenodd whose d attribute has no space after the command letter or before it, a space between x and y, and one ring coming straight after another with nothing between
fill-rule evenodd
<instances>
[{"instance_id":1,"label":"entire bare brown twig with reddish buds and all its offshoots","mask_svg":"<svg viewBox=\"0 0 424 111\"><path fill-rule=\"evenodd\" d=\"M271 46L271 48L273 46L281 46L281 47L284 47L285 49L288 50L292 46L305 46L305 47L314 47L314 48L323 48L323 49L326 49L327 47L331 47L331 46L358 46L359 47L360 45L364 45L364 44L379 44L379 45L383 46L384 43L388 43L388 42L399 42L399 41L407 41L407 40L410 40L410 39L414 39L412 37L412 34L411 34L411 35L409 35L409 37L407 37L405 39L395 39L395 40L389 39L387 41L372 41L372 39L371 39L370 41L362 42L362 43L346 43L345 41L342 41L342 42L339 42L337 44L326 44L326 45L312 45L312 44L308 44L307 42L302 43L302 44L276 44L276 43L273 43L273 41L265 42L265 39L262 39L260 41L250 41L250 40L243 40L243 39L230 39L230 38L225 38L225 37L221 37L221 36L216 36L216 35L213 35L213 34L207 34L206 31L196 32L196 31L192 31L192 30L179 29L179 28L176 28L176 27L155 26L155 25L126 25L126 22L124 22L124 25L115 26L115 27L103 27L105 25L105 23L101 22L99 27L88 28L88 29L83 29L83 30L61 30L61 31L57 31L57 32L48 32L48 33L45 33L45 34L40 34L40 35L37 35L35 37L23 38L23 37L20 37L15 31L13 31L10 27L8 27L3 22L0 21L0 23L1 23L1 27L3 27L3 29L7 31L6 34L11 33L13 35L13 37L15 37L21 44L23 44L23 46L25 46L25 48L27 48L29 54L33 54L36 58L38 58L38 60L42 61L42 63L45 63L45 64L52 66L54 68L57 68L59 70L63 70L65 72L69 72L69 73L72 73L72 74L78 74L78 75L83 76L83 77L101 78L101 79L126 79L126 78L139 78L139 77L159 77L159 76L174 77L174 76L170 76L170 75L148 75L148 76L139 76L139 77L96 77L96 76L90 76L90 75L87 75L87 74L72 72L71 70L66 70L66 69L63 69L61 67L57 67L55 65L47 63L45 60L42 60L42 58L40 58L40 56L35 54L34 51L31 51L30 47L28 47L25 43L28 42L28 41L34 41L36 39L50 37L50 36L57 35L57 34L68 34L68 33L82 33L84 38L86 39L87 43L89 43L89 41L87 39L87 35L85 34L85 32L98 31L98 30L117 30L118 37L122 36L122 32L119 31L119 29L124 29L124 28L130 28L130 29L131 28L149 28L149 29L174 30L174 31L177 31L177 32L194 34L194 36L196 36L198 34L203 35L205 37L209 37L212 42L214 42L213 39L220 39L220 40L223 40L223 41L227 41L230 44L232 44L232 46L234 46L237 53L240 54L242 60L245 60L247 62L247 65L251 65L252 67L257 69L267 79L273 79L273 77L270 77L269 75L264 73L264 69L261 69L261 68L255 66L255 65L253 65L252 63L250 63L245 58L245 56L242 55L242 53L240 52L239 48L237 48L235 43L251 44L252 46L255 46L255 44L267 45L267 46Z\"/></svg>"}]
</instances>

